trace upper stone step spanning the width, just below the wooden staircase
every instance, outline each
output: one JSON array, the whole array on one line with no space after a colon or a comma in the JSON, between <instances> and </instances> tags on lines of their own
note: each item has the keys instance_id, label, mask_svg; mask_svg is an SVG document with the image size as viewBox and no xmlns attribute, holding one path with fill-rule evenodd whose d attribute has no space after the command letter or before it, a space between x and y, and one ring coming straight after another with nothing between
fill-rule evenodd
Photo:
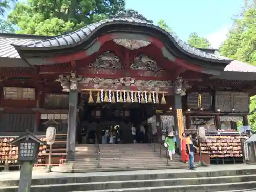
<instances>
[{"instance_id":1,"label":"upper stone step spanning the width, just below the wooden staircase","mask_svg":"<svg viewBox=\"0 0 256 192\"><path fill-rule=\"evenodd\" d=\"M216 165L219 167L222 165ZM165 179L189 179L189 178L211 178L211 177L226 177L226 176L251 176L256 175L256 169L248 168L245 166L243 169L232 169L228 170L227 165L218 168L221 170L215 170L215 168L202 168L197 171L188 171L187 169L182 170L148 170L144 171L129 171L129 172L113 172L109 173L84 173L84 174L69 174L58 176L50 175L49 177L34 178L32 179L32 185L53 185L53 184L65 184L65 183L91 183L91 182L108 182L108 181L130 181L130 180L165 180ZM55 167L54 167L55 168ZM57 168L57 167L56 167ZM111 169L110 169L111 170ZM53 174L53 173L52 173ZM18 186L19 179L1 179L0 186ZM255 187L254 187L255 188ZM218 191L218 190L215 190Z\"/></svg>"}]
</instances>

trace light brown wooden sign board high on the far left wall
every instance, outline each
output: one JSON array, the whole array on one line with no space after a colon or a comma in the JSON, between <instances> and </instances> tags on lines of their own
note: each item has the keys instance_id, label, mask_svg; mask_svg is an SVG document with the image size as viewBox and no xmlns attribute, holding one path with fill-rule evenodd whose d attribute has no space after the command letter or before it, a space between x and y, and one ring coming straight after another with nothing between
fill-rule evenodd
<instances>
[{"instance_id":1,"label":"light brown wooden sign board high on the far left wall","mask_svg":"<svg viewBox=\"0 0 256 192\"><path fill-rule=\"evenodd\" d=\"M4 87L4 99L35 100L35 88Z\"/></svg>"}]
</instances>

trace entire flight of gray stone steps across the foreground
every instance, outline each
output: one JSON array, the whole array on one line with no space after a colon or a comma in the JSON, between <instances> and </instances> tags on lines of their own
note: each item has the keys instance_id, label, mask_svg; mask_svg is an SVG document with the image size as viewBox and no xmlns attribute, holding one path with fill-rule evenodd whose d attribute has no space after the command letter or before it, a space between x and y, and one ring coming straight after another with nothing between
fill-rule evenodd
<instances>
[{"instance_id":1,"label":"entire flight of gray stone steps across the foreground","mask_svg":"<svg viewBox=\"0 0 256 192\"><path fill-rule=\"evenodd\" d=\"M221 166L221 165L219 165ZM82 173L32 179L31 192L242 192L256 188L256 168L228 170L146 170L131 172ZM18 179L0 180L0 192L16 192Z\"/></svg>"}]
</instances>

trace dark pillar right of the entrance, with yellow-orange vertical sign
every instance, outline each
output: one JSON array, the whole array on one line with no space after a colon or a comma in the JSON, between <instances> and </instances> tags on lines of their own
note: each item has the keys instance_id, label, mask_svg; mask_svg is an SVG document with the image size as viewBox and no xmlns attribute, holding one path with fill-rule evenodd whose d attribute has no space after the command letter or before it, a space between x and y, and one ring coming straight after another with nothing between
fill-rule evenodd
<instances>
[{"instance_id":1,"label":"dark pillar right of the entrance, with yellow-orange vertical sign","mask_svg":"<svg viewBox=\"0 0 256 192\"><path fill-rule=\"evenodd\" d=\"M175 108L175 114L174 114L174 126L175 126L175 131L177 131L177 135L176 135L176 143L177 146L180 146L180 137L182 137L182 133L184 132L184 124L183 124L183 114L181 114L182 118L182 123L180 122L180 120L178 119L178 115L177 112L182 110L182 100L181 100L182 96L180 94L174 94L174 108ZM179 123L180 122L180 123ZM183 126L183 129L179 129L179 126ZM177 150L180 151L180 148Z\"/></svg>"}]
</instances>

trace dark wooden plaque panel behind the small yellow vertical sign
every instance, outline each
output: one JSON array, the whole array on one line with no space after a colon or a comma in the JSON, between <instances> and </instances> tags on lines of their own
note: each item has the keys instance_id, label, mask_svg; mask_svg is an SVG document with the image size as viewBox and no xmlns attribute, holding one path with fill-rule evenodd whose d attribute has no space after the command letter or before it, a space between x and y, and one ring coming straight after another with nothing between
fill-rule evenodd
<instances>
[{"instance_id":1,"label":"dark wooden plaque panel behind the small yellow vertical sign","mask_svg":"<svg viewBox=\"0 0 256 192\"><path fill-rule=\"evenodd\" d=\"M198 105L198 97L201 95L201 105ZM200 109L209 110L212 106L212 95L211 93L199 93L193 92L187 94L187 107L190 109Z\"/></svg>"}]
</instances>

